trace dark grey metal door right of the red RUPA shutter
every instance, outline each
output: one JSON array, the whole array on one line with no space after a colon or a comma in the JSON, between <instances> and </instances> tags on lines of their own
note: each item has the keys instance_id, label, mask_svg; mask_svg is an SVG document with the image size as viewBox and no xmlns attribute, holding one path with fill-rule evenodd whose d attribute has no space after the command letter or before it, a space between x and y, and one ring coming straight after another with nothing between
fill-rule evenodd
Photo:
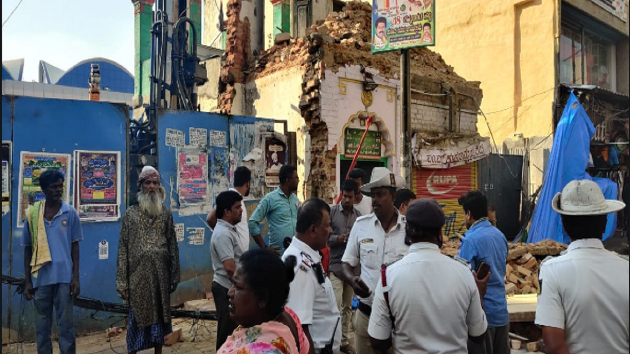
<instances>
[{"instance_id":1,"label":"dark grey metal door right of the red RUPA shutter","mask_svg":"<svg viewBox=\"0 0 630 354\"><path fill-rule=\"evenodd\" d=\"M491 154L479 161L479 190L496 207L496 227L512 241L520 231L523 156Z\"/></svg>"}]
</instances>

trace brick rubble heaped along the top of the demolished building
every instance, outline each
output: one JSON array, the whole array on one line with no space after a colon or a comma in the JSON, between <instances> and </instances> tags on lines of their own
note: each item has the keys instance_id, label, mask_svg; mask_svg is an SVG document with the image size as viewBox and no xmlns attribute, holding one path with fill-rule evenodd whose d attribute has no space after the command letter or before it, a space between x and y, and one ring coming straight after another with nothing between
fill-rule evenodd
<instances>
[{"instance_id":1,"label":"brick rubble heaped along the top of the demolished building","mask_svg":"<svg viewBox=\"0 0 630 354\"><path fill-rule=\"evenodd\" d=\"M342 11L332 12L325 21L308 28L304 38L290 38L289 33L280 33L276 37L275 45L263 50L255 60L255 67L249 71L262 77L287 67L306 67L309 62L323 60L326 68L333 72L337 72L341 66L361 64L378 69L383 77L398 78L399 52L370 52L371 14L372 6L369 3L354 0L347 3ZM446 64L442 55L426 47L411 49L410 55L413 74L475 86L458 76L454 68Z\"/></svg>"}]
</instances>

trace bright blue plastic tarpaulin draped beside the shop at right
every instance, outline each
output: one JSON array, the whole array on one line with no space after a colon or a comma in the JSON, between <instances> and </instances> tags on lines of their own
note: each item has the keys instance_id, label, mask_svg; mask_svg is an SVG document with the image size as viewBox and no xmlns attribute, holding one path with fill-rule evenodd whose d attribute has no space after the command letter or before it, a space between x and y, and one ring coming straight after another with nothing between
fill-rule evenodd
<instances>
[{"instance_id":1,"label":"bright blue plastic tarpaulin draped beside the shop at right","mask_svg":"<svg viewBox=\"0 0 630 354\"><path fill-rule=\"evenodd\" d=\"M528 243L544 239L570 242L569 236L562 228L560 215L551 208L554 195L561 192L570 181L593 180L602 188L605 198L617 199L619 190L616 183L606 178L593 179L586 172L593 134L595 134L593 123L578 98L571 92L556 128L541 196L536 204L527 236ZM612 236L616 228L617 214L610 214L604 239Z\"/></svg>"}]
</instances>

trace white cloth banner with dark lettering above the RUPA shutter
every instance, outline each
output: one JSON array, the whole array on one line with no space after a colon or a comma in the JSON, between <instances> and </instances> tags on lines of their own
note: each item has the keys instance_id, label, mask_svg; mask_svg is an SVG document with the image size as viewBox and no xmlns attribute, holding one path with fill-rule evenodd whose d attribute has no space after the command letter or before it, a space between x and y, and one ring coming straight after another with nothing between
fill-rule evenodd
<instances>
[{"instance_id":1,"label":"white cloth banner with dark lettering above the RUPA shutter","mask_svg":"<svg viewBox=\"0 0 630 354\"><path fill-rule=\"evenodd\" d=\"M415 152L416 164L421 168L452 168L477 161L490 155L490 139L466 147L444 149L421 148Z\"/></svg>"}]
</instances>

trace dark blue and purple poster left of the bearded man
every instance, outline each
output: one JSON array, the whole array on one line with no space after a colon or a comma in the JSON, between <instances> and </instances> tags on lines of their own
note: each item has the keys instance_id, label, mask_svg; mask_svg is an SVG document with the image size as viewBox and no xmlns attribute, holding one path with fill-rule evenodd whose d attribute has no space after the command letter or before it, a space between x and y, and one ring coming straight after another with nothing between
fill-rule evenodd
<instances>
[{"instance_id":1,"label":"dark blue and purple poster left of the bearded man","mask_svg":"<svg viewBox=\"0 0 630 354\"><path fill-rule=\"evenodd\" d=\"M75 205L81 220L118 220L120 152L75 151Z\"/></svg>"}]
</instances>

